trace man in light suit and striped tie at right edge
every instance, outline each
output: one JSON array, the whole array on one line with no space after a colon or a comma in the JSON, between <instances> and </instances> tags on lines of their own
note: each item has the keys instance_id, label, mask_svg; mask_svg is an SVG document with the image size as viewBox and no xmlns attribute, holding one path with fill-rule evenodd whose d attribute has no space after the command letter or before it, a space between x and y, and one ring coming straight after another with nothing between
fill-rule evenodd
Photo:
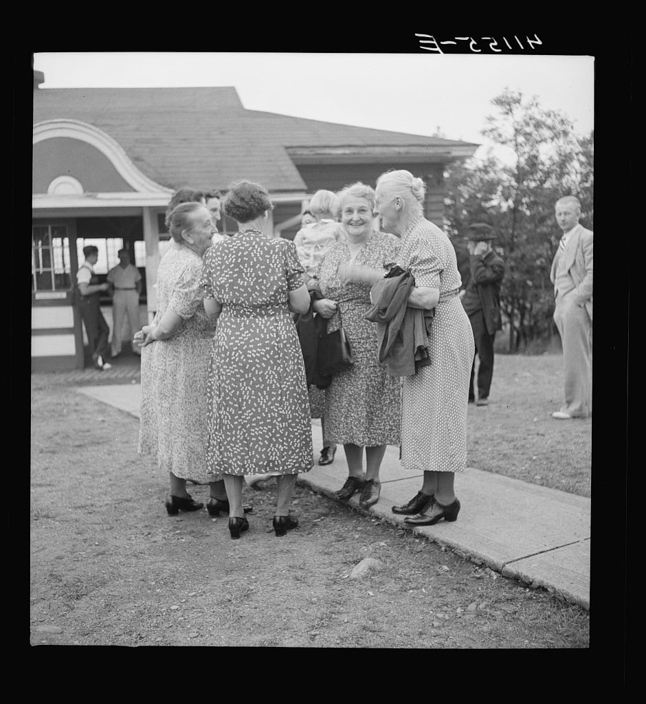
<instances>
[{"instance_id":1,"label":"man in light suit and striped tie at right edge","mask_svg":"<svg viewBox=\"0 0 646 704\"><path fill-rule=\"evenodd\" d=\"M561 336L565 404L557 420L592 415L593 233L578 224L581 203L565 196L555 205L563 237L552 262L554 321Z\"/></svg>"}]
</instances>

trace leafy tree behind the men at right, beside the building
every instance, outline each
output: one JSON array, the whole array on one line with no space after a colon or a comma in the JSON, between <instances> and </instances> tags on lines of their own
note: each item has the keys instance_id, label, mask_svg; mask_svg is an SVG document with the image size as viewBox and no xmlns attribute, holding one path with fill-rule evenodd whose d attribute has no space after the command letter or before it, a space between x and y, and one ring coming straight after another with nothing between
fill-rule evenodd
<instances>
[{"instance_id":1,"label":"leafy tree behind the men at right, beside the building","mask_svg":"<svg viewBox=\"0 0 646 704\"><path fill-rule=\"evenodd\" d=\"M502 161L489 150L481 161L450 165L445 226L453 236L461 271L468 255L460 236L471 222L488 222L505 258L501 309L509 324L509 351L525 350L553 332L550 266L561 236L554 205L562 196L581 201L581 224L592 227L593 134L578 137L563 113L544 110L538 99L505 89L492 101L497 113L482 130L505 147Z\"/></svg>"}]
</instances>

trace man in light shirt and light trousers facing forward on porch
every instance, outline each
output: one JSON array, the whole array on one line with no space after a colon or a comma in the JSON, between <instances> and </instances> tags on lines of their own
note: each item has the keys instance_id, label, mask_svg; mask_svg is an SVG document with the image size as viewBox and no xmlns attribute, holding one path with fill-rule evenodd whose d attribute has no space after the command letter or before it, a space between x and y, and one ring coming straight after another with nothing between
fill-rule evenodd
<instances>
[{"instance_id":1,"label":"man in light shirt and light trousers facing forward on porch","mask_svg":"<svg viewBox=\"0 0 646 704\"><path fill-rule=\"evenodd\" d=\"M114 329L112 331L112 356L121 354L121 333L126 315L130 324L130 339L137 332L139 324L139 294L141 294L141 274L137 267L130 263L127 249L118 252L119 263L108 271L108 283L112 289L112 315ZM134 354L141 356L141 349L132 346Z\"/></svg>"}]
</instances>

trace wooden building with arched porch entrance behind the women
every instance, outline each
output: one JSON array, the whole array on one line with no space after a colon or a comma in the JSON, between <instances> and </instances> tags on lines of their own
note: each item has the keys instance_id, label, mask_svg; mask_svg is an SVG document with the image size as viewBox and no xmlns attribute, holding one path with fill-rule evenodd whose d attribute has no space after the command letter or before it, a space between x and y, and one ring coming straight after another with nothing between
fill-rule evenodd
<instances>
[{"instance_id":1,"label":"wooden building with arched porch entrance behind the women","mask_svg":"<svg viewBox=\"0 0 646 704\"><path fill-rule=\"evenodd\" d=\"M180 187L265 186L270 227L292 239L318 189L372 184L391 168L424 178L429 220L442 225L445 165L477 144L246 110L234 87L43 89L34 71L32 370L84 365L72 283L86 244L105 280L125 248L144 279L141 321L156 310L165 208ZM223 218L220 231L234 232ZM101 301L108 322L110 298ZM110 326L111 327L111 326ZM134 332L134 331L131 331Z\"/></svg>"}]
</instances>

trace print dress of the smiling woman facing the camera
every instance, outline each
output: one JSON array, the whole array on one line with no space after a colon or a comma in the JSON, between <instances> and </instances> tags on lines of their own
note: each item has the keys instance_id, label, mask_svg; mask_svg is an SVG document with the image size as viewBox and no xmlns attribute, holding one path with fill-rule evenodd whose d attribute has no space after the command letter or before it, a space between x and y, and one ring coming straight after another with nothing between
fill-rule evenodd
<instances>
[{"instance_id":1,"label":"print dress of the smiling woman facing the camera","mask_svg":"<svg viewBox=\"0 0 646 704\"><path fill-rule=\"evenodd\" d=\"M374 232L357 253L355 265L384 269L397 256L399 240L386 232ZM365 320L372 306L369 284L341 282L338 265L350 261L346 242L336 244L317 270L321 293L338 302L355 363L332 377L325 390L325 434L331 443L359 446L399 444L400 383L389 377L377 362L376 325ZM338 313L328 323L338 329Z\"/></svg>"}]
</instances>

